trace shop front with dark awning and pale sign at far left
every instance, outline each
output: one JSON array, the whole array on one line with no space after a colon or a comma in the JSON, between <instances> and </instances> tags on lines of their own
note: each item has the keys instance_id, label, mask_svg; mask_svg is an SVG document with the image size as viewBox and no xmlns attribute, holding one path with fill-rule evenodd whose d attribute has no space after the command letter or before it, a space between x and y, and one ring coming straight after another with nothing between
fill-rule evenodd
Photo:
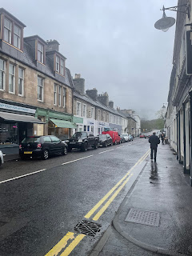
<instances>
[{"instance_id":1,"label":"shop front with dark awning and pale sign at far left","mask_svg":"<svg viewBox=\"0 0 192 256\"><path fill-rule=\"evenodd\" d=\"M34 114L34 108L0 102L0 150L6 158L18 154L22 139L33 135L34 123L43 125Z\"/></svg>"}]
</instances>

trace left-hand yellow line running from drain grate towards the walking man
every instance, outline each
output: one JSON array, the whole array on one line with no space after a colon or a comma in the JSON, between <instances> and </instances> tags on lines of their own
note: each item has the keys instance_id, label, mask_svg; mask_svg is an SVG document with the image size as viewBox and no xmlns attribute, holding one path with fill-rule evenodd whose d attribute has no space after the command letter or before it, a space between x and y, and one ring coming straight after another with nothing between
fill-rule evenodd
<instances>
[{"instance_id":1,"label":"left-hand yellow line running from drain grate towards the walking man","mask_svg":"<svg viewBox=\"0 0 192 256\"><path fill-rule=\"evenodd\" d=\"M147 153L147 152L146 152ZM146 154L144 154L142 156L142 158L145 156ZM142 159L140 158L140 159ZM85 218L90 218L90 216L92 214L94 214L94 212L96 210L98 210L98 207L100 207L102 205L103 202L106 201L107 198L110 197L110 194L112 194L114 192L114 190L116 190L118 188L118 186L127 178L127 176L130 174L130 171L134 169L135 166L137 166L140 163L140 159L138 160L138 162L136 162L134 164L133 167L130 168L130 170L127 172L127 174L84 216Z\"/></svg>"}]
</instances>

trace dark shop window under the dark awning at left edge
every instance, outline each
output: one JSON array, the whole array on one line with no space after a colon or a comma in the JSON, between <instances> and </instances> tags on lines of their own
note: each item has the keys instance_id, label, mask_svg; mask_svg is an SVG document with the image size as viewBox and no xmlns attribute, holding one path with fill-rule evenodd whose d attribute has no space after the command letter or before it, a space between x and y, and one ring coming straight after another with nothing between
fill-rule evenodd
<instances>
[{"instance_id":1,"label":"dark shop window under the dark awning at left edge","mask_svg":"<svg viewBox=\"0 0 192 256\"><path fill-rule=\"evenodd\" d=\"M18 144L18 123L0 123L0 145Z\"/></svg>"}]
</instances>

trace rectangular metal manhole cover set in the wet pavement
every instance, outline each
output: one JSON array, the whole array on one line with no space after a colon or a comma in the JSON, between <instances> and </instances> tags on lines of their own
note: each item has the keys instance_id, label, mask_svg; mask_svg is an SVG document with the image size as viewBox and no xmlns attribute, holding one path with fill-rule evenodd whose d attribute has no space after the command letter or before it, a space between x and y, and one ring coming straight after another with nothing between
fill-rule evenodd
<instances>
[{"instance_id":1,"label":"rectangular metal manhole cover set in the wet pavement","mask_svg":"<svg viewBox=\"0 0 192 256\"><path fill-rule=\"evenodd\" d=\"M131 208L126 216L126 222L134 222L149 226L159 226L160 215L156 211Z\"/></svg>"}]
</instances>

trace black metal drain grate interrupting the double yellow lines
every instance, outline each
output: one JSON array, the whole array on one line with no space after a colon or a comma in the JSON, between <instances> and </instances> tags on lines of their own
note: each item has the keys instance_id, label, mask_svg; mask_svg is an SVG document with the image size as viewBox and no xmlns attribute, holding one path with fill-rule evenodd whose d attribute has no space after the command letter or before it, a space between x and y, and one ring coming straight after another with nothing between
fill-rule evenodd
<instances>
[{"instance_id":1,"label":"black metal drain grate interrupting the double yellow lines","mask_svg":"<svg viewBox=\"0 0 192 256\"><path fill-rule=\"evenodd\" d=\"M78 222L78 224L74 227L74 231L94 237L95 234L101 231L101 227L102 225L100 224L82 220L81 222Z\"/></svg>"}]
</instances>

